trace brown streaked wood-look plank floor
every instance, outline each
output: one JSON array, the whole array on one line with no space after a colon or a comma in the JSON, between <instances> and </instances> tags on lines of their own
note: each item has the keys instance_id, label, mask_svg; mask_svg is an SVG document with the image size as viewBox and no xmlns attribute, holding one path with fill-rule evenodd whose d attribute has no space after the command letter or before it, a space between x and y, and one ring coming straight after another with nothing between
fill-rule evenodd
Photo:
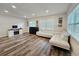
<instances>
[{"instance_id":1,"label":"brown streaked wood-look plank floor","mask_svg":"<svg viewBox=\"0 0 79 59\"><path fill-rule=\"evenodd\" d=\"M24 33L0 38L0 56L68 56L69 51L51 47L48 38Z\"/></svg>"}]
</instances>

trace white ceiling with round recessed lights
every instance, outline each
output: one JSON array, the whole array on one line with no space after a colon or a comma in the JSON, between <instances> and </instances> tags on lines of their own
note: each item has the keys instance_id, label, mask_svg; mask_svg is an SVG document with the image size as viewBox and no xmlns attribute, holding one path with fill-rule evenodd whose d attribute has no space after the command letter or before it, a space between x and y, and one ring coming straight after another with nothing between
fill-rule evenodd
<instances>
[{"instance_id":1,"label":"white ceiling with round recessed lights","mask_svg":"<svg viewBox=\"0 0 79 59\"><path fill-rule=\"evenodd\" d=\"M16 8L13 9L11 6L15 5ZM27 18L53 15L66 13L69 3L0 3L0 14L14 17L23 17ZM4 10L8 10L8 13L4 13ZM45 10L49 10L48 13ZM35 14L33 16L32 14Z\"/></svg>"}]
</instances>

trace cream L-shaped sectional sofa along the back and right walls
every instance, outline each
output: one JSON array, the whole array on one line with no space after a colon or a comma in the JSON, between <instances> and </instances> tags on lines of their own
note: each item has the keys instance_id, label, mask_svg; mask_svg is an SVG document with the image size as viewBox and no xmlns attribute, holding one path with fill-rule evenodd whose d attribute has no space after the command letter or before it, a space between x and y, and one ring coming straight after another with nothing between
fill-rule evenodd
<instances>
[{"instance_id":1,"label":"cream L-shaped sectional sofa along the back and right walls","mask_svg":"<svg viewBox=\"0 0 79 59\"><path fill-rule=\"evenodd\" d=\"M67 32L38 31L36 35L50 38L50 45L70 50L70 45L68 43L69 35Z\"/></svg>"}]
</instances>

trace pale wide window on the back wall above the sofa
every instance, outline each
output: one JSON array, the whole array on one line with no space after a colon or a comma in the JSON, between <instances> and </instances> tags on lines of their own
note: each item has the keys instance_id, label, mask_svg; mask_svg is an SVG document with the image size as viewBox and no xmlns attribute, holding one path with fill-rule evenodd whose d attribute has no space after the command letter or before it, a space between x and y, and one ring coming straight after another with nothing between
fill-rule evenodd
<instances>
[{"instance_id":1,"label":"pale wide window on the back wall above the sofa","mask_svg":"<svg viewBox=\"0 0 79 59\"><path fill-rule=\"evenodd\" d=\"M48 30L48 31L51 31L51 30L54 30L56 29L56 26L57 23L55 20L39 20L39 30L42 30L42 31L45 31L45 30Z\"/></svg>"}]
</instances>

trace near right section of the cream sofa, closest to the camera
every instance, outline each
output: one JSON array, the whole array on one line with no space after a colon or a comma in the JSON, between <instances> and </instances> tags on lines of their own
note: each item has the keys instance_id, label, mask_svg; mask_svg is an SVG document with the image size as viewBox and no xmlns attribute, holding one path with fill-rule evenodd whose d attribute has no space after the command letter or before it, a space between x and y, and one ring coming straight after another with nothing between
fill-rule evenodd
<instances>
[{"instance_id":1,"label":"near right section of the cream sofa, closest to the camera","mask_svg":"<svg viewBox=\"0 0 79 59\"><path fill-rule=\"evenodd\" d=\"M70 45L67 41L67 37L61 37L61 35L54 35L50 40L49 43L51 45L70 50Z\"/></svg>"}]
</instances>

